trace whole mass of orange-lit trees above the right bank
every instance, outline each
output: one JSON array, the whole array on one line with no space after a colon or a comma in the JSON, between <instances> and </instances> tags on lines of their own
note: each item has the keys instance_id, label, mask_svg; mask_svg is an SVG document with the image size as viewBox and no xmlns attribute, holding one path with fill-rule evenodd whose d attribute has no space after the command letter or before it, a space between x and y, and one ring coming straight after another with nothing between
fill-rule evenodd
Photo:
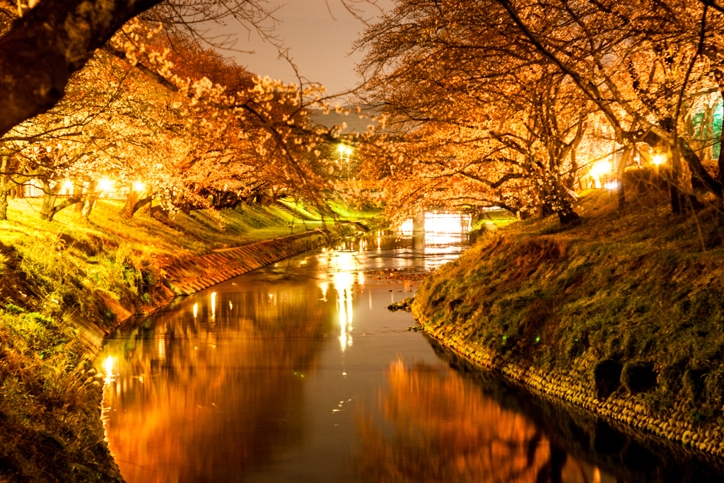
<instances>
[{"instance_id":1,"label":"whole mass of orange-lit trees above the right bank","mask_svg":"<svg viewBox=\"0 0 724 483\"><path fill-rule=\"evenodd\" d=\"M693 0L401 0L358 46L368 50L362 70L374 74L369 99L389 112L400 127L396 134L404 137L400 149L411 154L403 161L413 164L408 169L389 167L392 176L402 173L397 185L415 187L410 193L432 203L436 196L471 204L499 199L501 206L540 206L543 214L567 218L566 190L559 185L572 188L576 165L645 143L669 154L672 209L678 213L682 190L691 188L683 164L705 189L722 196L720 183L683 135L698 98L719 88L717 77L724 79L718 67L723 37L717 34L723 26L720 9L707 11ZM503 126L494 122L496 114ZM607 122L607 139L586 141L597 124L593 115ZM574 134L576 125L584 138ZM424 144L405 146L424 137L433 138L426 156ZM596 141L604 146L589 159L576 156ZM511 150L527 151L529 159L521 162ZM422 167L418 174L416 162L433 169Z\"/></svg>"}]
</instances>

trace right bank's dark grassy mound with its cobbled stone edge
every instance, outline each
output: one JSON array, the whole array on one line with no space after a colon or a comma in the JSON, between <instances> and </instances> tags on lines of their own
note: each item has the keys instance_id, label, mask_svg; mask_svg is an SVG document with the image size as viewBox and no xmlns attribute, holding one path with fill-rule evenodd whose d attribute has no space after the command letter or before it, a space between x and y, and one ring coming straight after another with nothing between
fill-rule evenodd
<instances>
[{"instance_id":1,"label":"right bank's dark grassy mound with its cobbled stone edge","mask_svg":"<svg viewBox=\"0 0 724 483\"><path fill-rule=\"evenodd\" d=\"M474 361L721 454L724 215L672 217L653 195L620 214L605 190L577 211L576 226L480 238L421 285L413 314Z\"/></svg>"}]
</instances>

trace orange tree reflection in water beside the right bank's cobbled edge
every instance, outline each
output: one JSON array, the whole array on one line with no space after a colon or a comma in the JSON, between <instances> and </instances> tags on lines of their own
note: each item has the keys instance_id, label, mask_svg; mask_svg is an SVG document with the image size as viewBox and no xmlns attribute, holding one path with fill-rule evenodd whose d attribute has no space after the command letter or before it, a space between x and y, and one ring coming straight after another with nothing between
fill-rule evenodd
<instances>
[{"instance_id":1,"label":"orange tree reflection in water beside the right bank's cobbled edge","mask_svg":"<svg viewBox=\"0 0 724 483\"><path fill-rule=\"evenodd\" d=\"M384 423L362 416L358 468L371 482L615 482L569 457L521 413L445 366L392 363Z\"/></svg>"}]
</instances>

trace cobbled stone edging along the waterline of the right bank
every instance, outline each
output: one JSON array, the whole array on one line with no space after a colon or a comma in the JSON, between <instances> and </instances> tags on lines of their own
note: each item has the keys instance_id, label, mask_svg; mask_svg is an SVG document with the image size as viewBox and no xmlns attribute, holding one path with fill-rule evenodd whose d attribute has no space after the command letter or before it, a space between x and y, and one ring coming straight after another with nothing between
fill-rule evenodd
<instances>
[{"instance_id":1,"label":"cobbled stone edging along the waterline of the right bank","mask_svg":"<svg viewBox=\"0 0 724 483\"><path fill-rule=\"evenodd\" d=\"M421 320L421 314L415 315L416 319ZM579 358L567 373L542 371L532 366L525 368L505 361L490 350L456 340L455 335L447 335L442 329L432 329L425 327L424 324L423 329L438 343L473 364L499 371L506 377L532 387L544 395L586 408L606 419L612 427L618 427L622 431L633 427L638 430L639 437L652 437L652 435L663 437L670 442L680 443L675 445L677 447L675 450L679 452L689 454L704 452L708 453L712 461L721 462L716 456L724 455L724 428L706 431L696 428L689 421L689 414L683 411L686 401L675 403L674 408L665 413L654 413L644 407L642 400L637 400L632 395L597 398L585 376L596 362L596 358L592 355L588 358Z\"/></svg>"}]
</instances>

